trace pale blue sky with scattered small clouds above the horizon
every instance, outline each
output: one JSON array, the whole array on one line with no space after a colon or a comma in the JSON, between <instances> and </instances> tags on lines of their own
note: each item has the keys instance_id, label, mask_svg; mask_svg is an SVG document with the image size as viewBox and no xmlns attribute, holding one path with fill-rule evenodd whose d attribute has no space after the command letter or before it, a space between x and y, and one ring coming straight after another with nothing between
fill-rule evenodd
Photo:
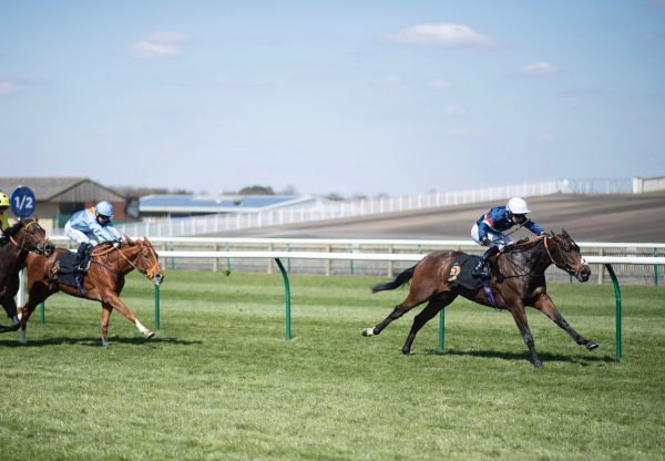
<instances>
[{"instance_id":1,"label":"pale blue sky with scattered small clouds above the horizon","mask_svg":"<svg viewBox=\"0 0 665 461\"><path fill-rule=\"evenodd\" d=\"M207 194L665 176L665 0L0 0L0 158Z\"/></svg>"}]
</instances>

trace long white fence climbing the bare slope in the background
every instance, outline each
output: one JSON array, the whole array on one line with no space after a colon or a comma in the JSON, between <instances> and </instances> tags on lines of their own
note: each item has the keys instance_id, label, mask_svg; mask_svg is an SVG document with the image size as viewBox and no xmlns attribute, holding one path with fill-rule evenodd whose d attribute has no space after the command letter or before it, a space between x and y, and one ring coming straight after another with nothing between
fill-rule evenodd
<instances>
[{"instance_id":1,"label":"long white fence climbing the bare slope in the background","mask_svg":"<svg viewBox=\"0 0 665 461\"><path fill-rule=\"evenodd\" d=\"M194 236L439 206L504 201L515 195L531 197L555 193L630 193L631 187L631 180L627 178L554 180L424 195L361 198L252 213L206 215L162 221L145 219L140 223L117 225L117 229L127 235L150 235L154 237Z\"/></svg>"}]
</instances>

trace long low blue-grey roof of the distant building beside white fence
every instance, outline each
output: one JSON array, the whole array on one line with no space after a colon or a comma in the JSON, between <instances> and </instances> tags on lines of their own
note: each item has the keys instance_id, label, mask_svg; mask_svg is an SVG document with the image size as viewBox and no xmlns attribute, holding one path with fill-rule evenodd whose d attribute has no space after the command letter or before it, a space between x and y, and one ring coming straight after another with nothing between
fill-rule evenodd
<instances>
[{"instance_id":1,"label":"long low blue-grey roof of the distant building beside white fence","mask_svg":"<svg viewBox=\"0 0 665 461\"><path fill-rule=\"evenodd\" d=\"M139 201L141 213L237 213L258 212L314 203L315 197L299 195L146 195Z\"/></svg>"}]
</instances>

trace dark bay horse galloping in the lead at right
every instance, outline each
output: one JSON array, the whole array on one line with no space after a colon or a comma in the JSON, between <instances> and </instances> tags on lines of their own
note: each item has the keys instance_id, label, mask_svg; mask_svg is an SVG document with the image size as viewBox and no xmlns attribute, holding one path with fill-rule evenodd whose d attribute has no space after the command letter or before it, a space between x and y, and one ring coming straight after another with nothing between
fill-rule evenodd
<instances>
[{"instance_id":1,"label":"dark bay horse galloping in the lead at right","mask_svg":"<svg viewBox=\"0 0 665 461\"><path fill-rule=\"evenodd\" d=\"M374 328L365 328L364 336L379 335L392 320L400 318L416 306L428 301L427 306L413 319L409 336L402 347L408 355L416 335L431 318L448 306L459 295L474 303L509 310L524 344L531 354L534 367L543 366L535 352L535 344L526 321L525 306L531 306L548 316L554 324L565 330L573 340L593 350L598 345L575 331L554 307L548 295L545 269L554 264L562 270L575 276L580 281L589 280L591 269L580 255L580 247L572 237L562 229L560 235L542 235L526 243L508 246L491 259L491 275L488 280L491 291L483 287L471 290L449 281L449 274L456 259L462 252L430 253L417 265L399 274L392 281L372 287L372 293L395 289L411 280L407 298L395 307L392 313Z\"/></svg>"}]
</instances>

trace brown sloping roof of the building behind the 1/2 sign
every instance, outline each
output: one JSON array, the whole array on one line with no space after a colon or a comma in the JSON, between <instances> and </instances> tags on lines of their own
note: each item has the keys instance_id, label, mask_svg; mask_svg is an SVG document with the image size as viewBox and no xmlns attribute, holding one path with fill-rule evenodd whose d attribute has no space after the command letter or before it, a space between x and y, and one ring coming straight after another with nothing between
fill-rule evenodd
<instances>
[{"instance_id":1,"label":"brown sloping roof of the building behind the 1/2 sign","mask_svg":"<svg viewBox=\"0 0 665 461\"><path fill-rule=\"evenodd\" d=\"M40 202L124 202L114 191L88 177L0 177L0 191L7 195L27 186Z\"/></svg>"}]
</instances>

